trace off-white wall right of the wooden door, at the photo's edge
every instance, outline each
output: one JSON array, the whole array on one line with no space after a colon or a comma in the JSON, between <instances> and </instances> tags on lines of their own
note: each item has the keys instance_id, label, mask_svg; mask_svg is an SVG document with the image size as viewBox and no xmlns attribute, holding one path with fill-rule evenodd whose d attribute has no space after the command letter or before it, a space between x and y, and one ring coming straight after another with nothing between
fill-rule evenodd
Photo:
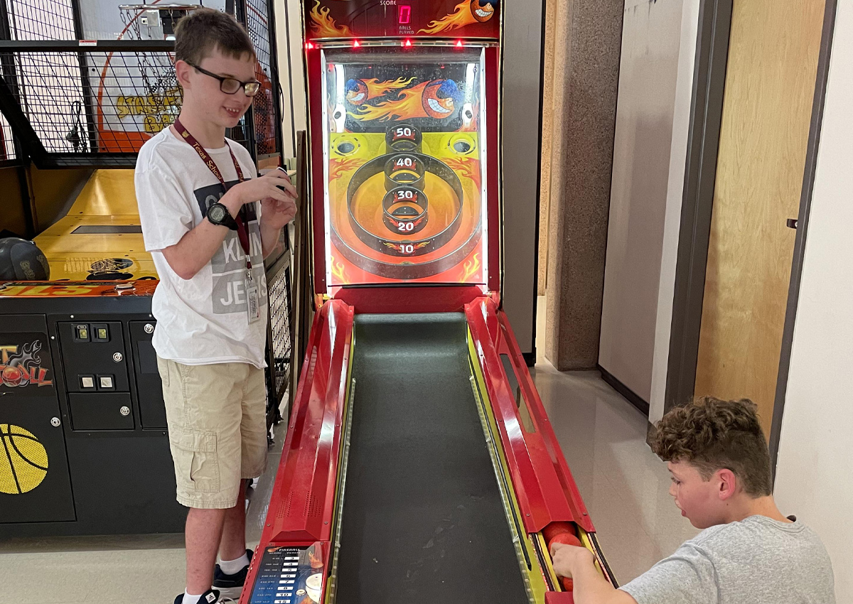
<instances>
[{"instance_id":1,"label":"off-white wall right of the wooden door, at the photo's edge","mask_svg":"<svg viewBox=\"0 0 853 604\"><path fill-rule=\"evenodd\" d=\"M853 601L853 3L839 2L794 327L775 496L821 536Z\"/></svg>"}]
</instances>

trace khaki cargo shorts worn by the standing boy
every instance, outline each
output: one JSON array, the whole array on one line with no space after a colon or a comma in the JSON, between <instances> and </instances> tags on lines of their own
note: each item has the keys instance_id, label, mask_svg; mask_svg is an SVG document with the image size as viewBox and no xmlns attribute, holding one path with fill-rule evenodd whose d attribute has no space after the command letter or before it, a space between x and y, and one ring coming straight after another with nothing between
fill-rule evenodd
<instances>
[{"instance_id":1,"label":"khaki cargo shorts worn by the standing boy","mask_svg":"<svg viewBox=\"0 0 853 604\"><path fill-rule=\"evenodd\" d=\"M264 370L248 363L184 365L157 358L177 502L233 508L241 479L264 472Z\"/></svg>"}]
</instances>

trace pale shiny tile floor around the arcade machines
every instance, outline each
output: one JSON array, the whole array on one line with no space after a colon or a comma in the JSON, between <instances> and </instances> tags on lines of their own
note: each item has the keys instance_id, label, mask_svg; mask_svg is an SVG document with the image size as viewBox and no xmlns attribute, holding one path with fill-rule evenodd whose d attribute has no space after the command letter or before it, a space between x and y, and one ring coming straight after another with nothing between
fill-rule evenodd
<instances>
[{"instance_id":1,"label":"pale shiny tile floor around the arcade machines","mask_svg":"<svg viewBox=\"0 0 853 604\"><path fill-rule=\"evenodd\" d=\"M666 468L645 443L646 418L597 372L560 373L541 354L534 380L601 547L625 583L697 531L667 494ZM281 457L283 435L276 437L249 507L250 547ZM0 604L169 604L183 590L183 536L11 539L0 543L0 577Z\"/></svg>"}]
</instances>

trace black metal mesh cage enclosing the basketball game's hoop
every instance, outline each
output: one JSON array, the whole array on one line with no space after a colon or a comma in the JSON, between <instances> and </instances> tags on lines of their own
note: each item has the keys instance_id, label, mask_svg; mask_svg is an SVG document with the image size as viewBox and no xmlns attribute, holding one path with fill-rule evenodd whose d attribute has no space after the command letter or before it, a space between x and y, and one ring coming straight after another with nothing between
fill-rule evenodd
<instances>
[{"instance_id":1,"label":"black metal mesh cage enclosing the basketball game's hoop","mask_svg":"<svg viewBox=\"0 0 853 604\"><path fill-rule=\"evenodd\" d=\"M118 39L90 45L77 42L72 0L0 0L0 109L26 154L39 166L133 166L180 112L172 34L198 6L117 6ZM279 146L270 5L245 0L237 13L257 46L261 90L226 136L259 160Z\"/></svg>"}]
</instances>

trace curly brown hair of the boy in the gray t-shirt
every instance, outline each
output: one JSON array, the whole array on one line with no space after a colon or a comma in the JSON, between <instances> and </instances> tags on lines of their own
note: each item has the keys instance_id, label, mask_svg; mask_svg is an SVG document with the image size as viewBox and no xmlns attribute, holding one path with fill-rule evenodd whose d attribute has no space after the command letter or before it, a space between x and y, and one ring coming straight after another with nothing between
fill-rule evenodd
<instances>
[{"instance_id":1,"label":"curly brown hair of the boy in the gray t-shirt","mask_svg":"<svg viewBox=\"0 0 853 604\"><path fill-rule=\"evenodd\" d=\"M656 427L652 450L664 462L689 462L705 480L728 468L752 497L771 493L767 440L757 406L748 398L693 398L670 410Z\"/></svg>"}]
</instances>

